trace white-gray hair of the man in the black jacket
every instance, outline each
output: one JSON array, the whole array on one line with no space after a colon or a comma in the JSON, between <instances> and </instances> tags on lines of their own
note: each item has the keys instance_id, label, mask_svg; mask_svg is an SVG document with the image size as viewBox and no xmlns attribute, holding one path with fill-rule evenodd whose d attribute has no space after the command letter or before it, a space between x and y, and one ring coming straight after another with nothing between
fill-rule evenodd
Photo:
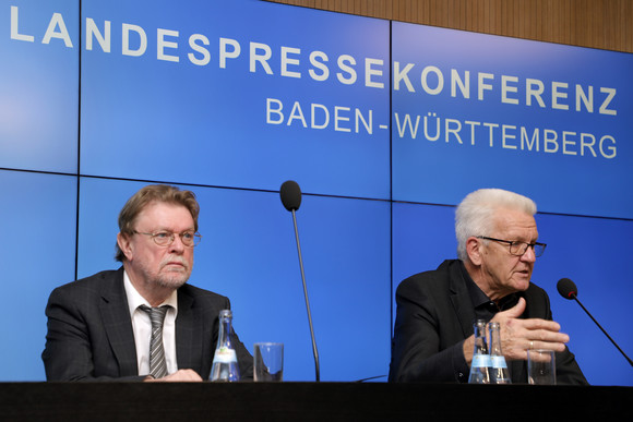
<instances>
[{"instance_id":1,"label":"white-gray hair of the man in the black jacket","mask_svg":"<svg viewBox=\"0 0 633 422\"><path fill-rule=\"evenodd\" d=\"M471 192L459 203L455 212L457 257L468 260L466 241L471 236L491 236L494 212L500 208L536 214L536 204L529 197L502 189L480 189Z\"/></svg>"}]
</instances>

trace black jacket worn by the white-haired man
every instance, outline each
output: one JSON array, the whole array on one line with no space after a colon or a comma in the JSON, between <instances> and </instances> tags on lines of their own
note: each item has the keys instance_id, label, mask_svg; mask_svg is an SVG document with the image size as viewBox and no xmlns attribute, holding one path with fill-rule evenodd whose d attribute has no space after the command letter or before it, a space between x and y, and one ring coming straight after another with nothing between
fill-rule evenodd
<instances>
[{"instance_id":1,"label":"black jacket worn by the white-haired man","mask_svg":"<svg viewBox=\"0 0 633 422\"><path fill-rule=\"evenodd\" d=\"M391 382L468 382L462 348L473 334L475 309L466 282L462 263L447 260L398 286ZM522 318L552 318L545 290L530 282L518 294L527 304ZM587 384L569 349L557 353L556 365L558 384ZM527 383L525 361L511 361L509 367L513 383Z\"/></svg>"}]
</instances>

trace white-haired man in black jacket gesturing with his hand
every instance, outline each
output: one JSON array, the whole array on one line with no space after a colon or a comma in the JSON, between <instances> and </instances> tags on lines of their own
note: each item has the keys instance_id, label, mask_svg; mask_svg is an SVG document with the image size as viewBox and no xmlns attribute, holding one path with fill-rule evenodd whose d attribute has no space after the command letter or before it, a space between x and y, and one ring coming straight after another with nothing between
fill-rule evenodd
<instances>
[{"instance_id":1,"label":"white-haired man in black jacket gesturing with his hand","mask_svg":"<svg viewBox=\"0 0 633 422\"><path fill-rule=\"evenodd\" d=\"M458 260L404 280L396 290L391 382L468 381L475 319L499 322L513 383L527 382L527 350L557 352L559 384L587 384L552 321L545 290L530 282L537 256L535 203L482 189L455 213Z\"/></svg>"}]
</instances>

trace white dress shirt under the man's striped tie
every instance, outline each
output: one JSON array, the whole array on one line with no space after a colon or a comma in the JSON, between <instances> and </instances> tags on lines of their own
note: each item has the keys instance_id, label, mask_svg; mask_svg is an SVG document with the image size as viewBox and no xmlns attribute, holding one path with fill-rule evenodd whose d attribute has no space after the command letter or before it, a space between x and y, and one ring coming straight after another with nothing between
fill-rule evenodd
<instances>
[{"instance_id":1,"label":"white dress shirt under the man's striped tie","mask_svg":"<svg viewBox=\"0 0 633 422\"><path fill-rule=\"evenodd\" d=\"M139 364L139 375L150 373L150 339L152 338L152 322L150 315L139 309L141 305L150 306L150 303L136 291L128 273L123 272L123 286L132 315L132 329L134 330L134 342L136 345L136 362ZM165 361L167 373L172 374L178 371L176 360L176 315L178 314L178 292L174 293L160 305L169 305L165 322L163 323L163 346L165 348Z\"/></svg>"}]
</instances>

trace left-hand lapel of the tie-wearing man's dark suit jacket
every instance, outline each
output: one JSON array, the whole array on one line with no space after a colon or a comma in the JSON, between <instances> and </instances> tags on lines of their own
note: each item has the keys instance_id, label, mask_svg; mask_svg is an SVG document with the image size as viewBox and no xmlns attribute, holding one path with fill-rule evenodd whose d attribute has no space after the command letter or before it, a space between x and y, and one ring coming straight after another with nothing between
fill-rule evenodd
<instances>
[{"instance_id":1,"label":"left-hand lapel of the tie-wearing man's dark suit jacket","mask_svg":"<svg viewBox=\"0 0 633 422\"><path fill-rule=\"evenodd\" d=\"M123 268L115 273L114 279L101 284L99 311L112 353L119 363L120 376L139 375L132 318L123 287Z\"/></svg>"}]
</instances>

